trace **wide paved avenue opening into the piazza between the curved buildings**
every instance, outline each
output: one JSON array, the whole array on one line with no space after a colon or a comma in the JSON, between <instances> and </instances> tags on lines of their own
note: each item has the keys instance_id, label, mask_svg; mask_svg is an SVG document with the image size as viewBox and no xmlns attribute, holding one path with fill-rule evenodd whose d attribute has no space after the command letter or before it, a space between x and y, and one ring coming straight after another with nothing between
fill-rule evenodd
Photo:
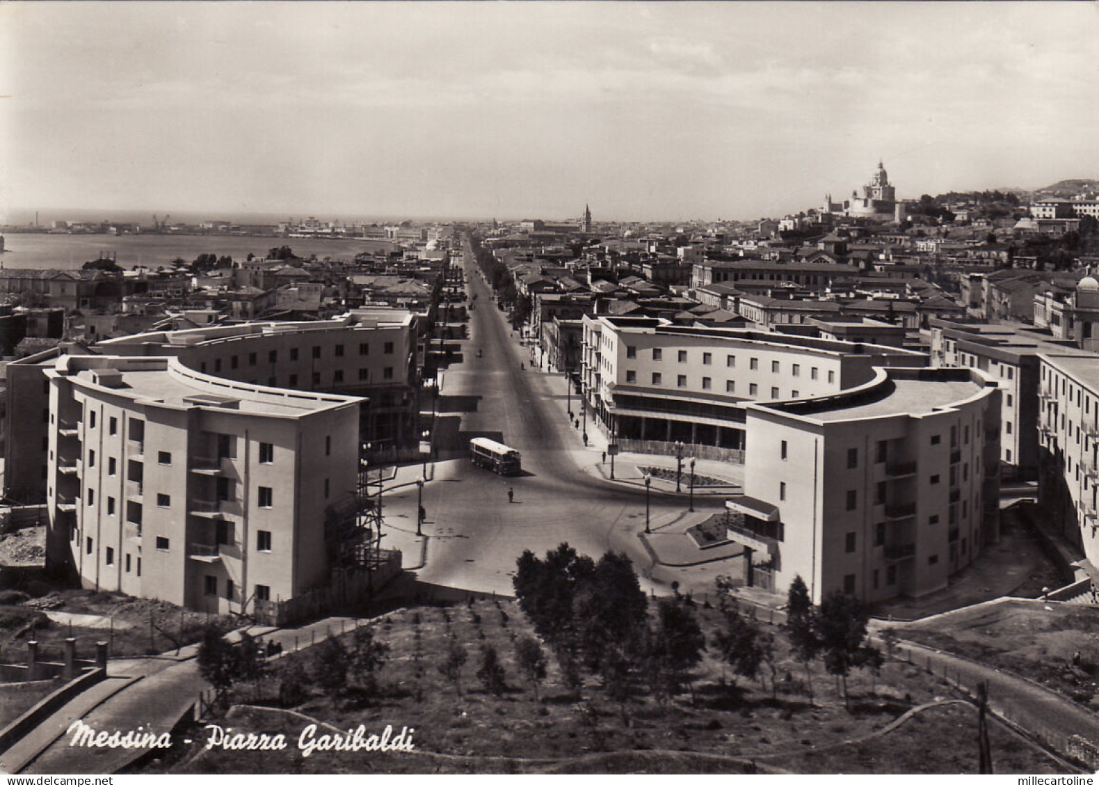
<instances>
[{"instance_id":1,"label":"wide paved avenue opening into the piazza between the curved buildings","mask_svg":"<svg viewBox=\"0 0 1099 787\"><path fill-rule=\"evenodd\" d=\"M568 542L595 558L608 550L624 552L646 589L667 591L676 579L688 587L681 569L654 567L637 537L645 528L644 490L610 483L596 470L601 452L586 448L580 432L568 422L563 377L530 368L529 351L514 337L469 255L465 266L469 302L475 304L470 339L463 361L444 373L441 411L464 410L460 432L452 441L455 448L460 451L469 437L490 436L522 453L523 474L499 476L468 458L439 463L436 480L424 489L432 523L425 532L437 537L431 539L419 579L510 595L515 559L523 550L541 555ZM575 396L573 407L578 411ZM595 432L593 424L588 428ZM509 488L514 490L513 502L508 500ZM721 505L699 502L699 511ZM685 513L687 499L654 492L650 506L655 526ZM699 585L712 587L713 575L731 569L719 570L721 565L701 572Z\"/></svg>"}]
</instances>

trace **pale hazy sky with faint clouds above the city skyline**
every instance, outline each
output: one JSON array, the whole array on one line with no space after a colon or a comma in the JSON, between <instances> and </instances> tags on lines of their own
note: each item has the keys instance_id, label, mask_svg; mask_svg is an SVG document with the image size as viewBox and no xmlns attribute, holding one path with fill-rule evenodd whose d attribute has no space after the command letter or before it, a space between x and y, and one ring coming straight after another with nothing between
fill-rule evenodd
<instances>
[{"instance_id":1,"label":"pale hazy sky with faint clouds above the city skyline","mask_svg":"<svg viewBox=\"0 0 1099 787\"><path fill-rule=\"evenodd\" d=\"M4 2L7 208L780 215L1099 177L1095 2Z\"/></svg>"}]
</instances>

